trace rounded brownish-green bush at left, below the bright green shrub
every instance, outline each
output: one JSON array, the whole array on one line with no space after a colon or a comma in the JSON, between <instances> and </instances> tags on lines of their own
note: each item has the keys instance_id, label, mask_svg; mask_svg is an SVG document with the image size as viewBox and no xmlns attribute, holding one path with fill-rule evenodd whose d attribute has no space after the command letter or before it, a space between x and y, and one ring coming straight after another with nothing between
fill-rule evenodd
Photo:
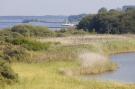
<instances>
[{"instance_id":1,"label":"rounded brownish-green bush at left, below the bright green shrub","mask_svg":"<svg viewBox=\"0 0 135 89\"><path fill-rule=\"evenodd\" d=\"M25 61L29 62L30 56L28 51L20 46L7 46L3 50L2 58L6 61Z\"/></svg>"}]
</instances>

